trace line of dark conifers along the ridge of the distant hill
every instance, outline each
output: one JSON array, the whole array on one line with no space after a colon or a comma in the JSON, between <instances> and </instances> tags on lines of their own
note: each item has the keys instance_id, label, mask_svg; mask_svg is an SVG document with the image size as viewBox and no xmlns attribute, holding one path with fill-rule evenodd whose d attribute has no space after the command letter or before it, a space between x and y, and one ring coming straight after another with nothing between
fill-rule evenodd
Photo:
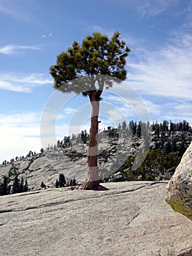
<instances>
[{"instance_id":1,"label":"line of dark conifers along the ridge of the distant hill","mask_svg":"<svg viewBox=\"0 0 192 256\"><path fill-rule=\"evenodd\" d=\"M135 136L137 138L142 138L142 131L149 131L152 132L153 135L153 140L158 141L159 139L161 139L161 142L164 145L164 142L166 142L167 138L171 138L174 137L174 135L176 134L176 132L183 132L183 135L185 135L185 132L188 132L189 134L192 133L192 128L190 126L190 124L188 123L188 121L180 121L180 122L172 122L172 121L166 121L164 120L163 123L158 123L158 121L153 122L153 124L150 124L150 122L144 123L142 121L129 121L129 124L126 123L126 121L123 121L122 124L119 124L117 128L109 126L107 127L107 129L104 128L104 133L107 133L107 135L112 138L112 137L118 137L118 131L125 131L126 135L128 136ZM99 130L99 132L101 133L101 130ZM184 143L185 138L180 138L181 139L181 145L180 145L180 150L181 148L186 149L185 146L182 144L182 142ZM47 148L41 148L40 149L40 154L42 154L43 152L45 152L46 150L50 150L53 148L57 148L57 147L61 147L61 148L65 148L68 147L70 145L72 145L72 143L88 143L89 140L89 134L88 132L85 130L82 132L80 132L80 134L74 135L72 134L72 136L64 136L64 139L62 140L58 140L57 143L53 146L53 145L48 145ZM172 151L175 151L175 142L176 138L174 138L174 140L172 141L173 146L172 146ZM161 144L161 143L160 143ZM160 148L159 143L156 144L156 148ZM184 146L184 147L183 147ZM166 151L170 151L171 149L170 145L166 146ZM8 163L12 163L12 162L17 162L19 160L22 159L26 159L28 157L34 157L36 156L37 153L36 151L28 151L28 154L26 154L26 156L20 156L20 157L15 157L10 159L9 161L4 160L2 162L2 165L7 165Z\"/></svg>"}]
</instances>

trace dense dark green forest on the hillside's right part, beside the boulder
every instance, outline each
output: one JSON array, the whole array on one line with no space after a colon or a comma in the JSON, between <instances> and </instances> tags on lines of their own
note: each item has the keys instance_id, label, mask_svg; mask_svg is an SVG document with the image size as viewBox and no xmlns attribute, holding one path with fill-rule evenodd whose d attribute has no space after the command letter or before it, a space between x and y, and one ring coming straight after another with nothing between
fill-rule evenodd
<instances>
[{"instance_id":1,"label":"dense dark green forest on the hillside's right part, beside the boulder","mask_svg":"<svg viewBox=\"0 0 192 256\"><path fill-rule=\"evenodd\" d=\"M192 141L192 129L188 121L163 123L153 122L145 124L130 121L120 127L128 129L129 135L134 136L133 146L139 146L139 138L142 138L142 130L151 133L150 150L142 165L137 170L132 170L132 164L136 154L132 154L117 172L123 174L120 181L161 181L169 180L177 165L179 165L183 154ZM110 131L110 135L115 130Z\"/></svg>"}]
</instances>

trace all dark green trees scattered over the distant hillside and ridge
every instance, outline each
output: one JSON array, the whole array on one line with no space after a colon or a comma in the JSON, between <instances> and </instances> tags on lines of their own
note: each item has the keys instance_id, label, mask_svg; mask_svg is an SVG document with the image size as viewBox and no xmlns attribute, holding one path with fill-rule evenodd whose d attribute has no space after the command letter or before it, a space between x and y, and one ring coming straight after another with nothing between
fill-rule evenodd
<instances>
[{"instance_id":1,"label":"all dark green trees scattered over the distant hillside and ridge","mask_svg":"<svg viewBox=\"0 0 192 256\"><path fill-rule=\"evenodd\" d=\"M146 132L147 131L147 132ZM150 150L145 158L145 161L137 170L132 170L134 159L137 155L137 150L142 141L147 141L147 134L150 134ZM179 165L185 150L192 141L192 128L188 121L172 122L164 120L162 123L158 121L144 123L142 121L123 121L118 127L109 126L107 129L100 131L99 138L108 138L114 147L120 136L123 138L131 138L131 147L134 148L132 154L128 157L124 164L119 167L116 173L121 173L121 178L114 179L114 181L161 181L169 180L173 175L177 165ZM65 136L64 139L58 140L55 145L48 145L47 148L41 148L40 153L29 151L26 157L15 157L9 161L4 160L2 165L10 165L9 175L2 176L0 180L0 195L8 195L10 193L26 192L28 191L28 183L23 178L18 179L17 168L14 163L22 161L23 159L40 157L46 154L46 151L55 150L56 148L69 148L78 143L88 145L89 135L86 130L80 134ZM114 151L114 148L113 148ZM86 157L82 152L66 153L70 160L80 157ZM110 151L101 151L98 156L99 164L107 162L113 153ZM61 177L60 177L61 178ZM9 182L12 181L12 186ZM109 181L109 177L101 178L102 182ZM55 187L61 187L61 181L57 181ZM70 184L75 184L70 181ZM68 186L70 185L68 184Z\"/></svg>"}]
</instances>

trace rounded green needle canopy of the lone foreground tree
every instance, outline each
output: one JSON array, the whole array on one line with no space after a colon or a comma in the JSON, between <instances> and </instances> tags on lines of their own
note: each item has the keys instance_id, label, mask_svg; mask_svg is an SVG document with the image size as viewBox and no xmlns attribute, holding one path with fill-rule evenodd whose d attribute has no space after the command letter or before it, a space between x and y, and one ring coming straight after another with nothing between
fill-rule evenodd
<instances>
[{"instance_id":1,"label":"rounded green needle canopy of the lone foreground tree","mask_svg":"<svg viewBox=\"0 0 192 256\"><path fill-rule=\"evenodd\" d=\"M74 41L72 47L59 54L56 64L50 67L54 88L63 92L83 93L86 96L86 91L96 90L99 75L125 80L126 57L129 51L126 42L120 39L119 31L111 39L96 32L93 36L85 37L81 45ZM86 78L91 78L93 83ZM106 86L112 86L109 79L105 82ZM103 89L102 86L104 85L99 83L99 90Z\"/></svg>"}]
</instances>

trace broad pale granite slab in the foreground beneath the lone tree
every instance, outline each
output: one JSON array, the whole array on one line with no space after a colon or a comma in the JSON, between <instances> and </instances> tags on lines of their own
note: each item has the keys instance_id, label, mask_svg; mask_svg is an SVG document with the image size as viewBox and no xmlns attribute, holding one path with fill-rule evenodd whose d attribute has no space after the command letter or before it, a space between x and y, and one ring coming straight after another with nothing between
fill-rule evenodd
<instances>
[{"instance_id":1,"label":"broad pale granite slab in the foreground beneath the lone tree","mask_svg":"<svg viewBox=\"0 0 192 256\"><path fill-rule=\"evenodd\" d=\"M167 183L5 195L0 255L191 256L192 222L165 202Z\"/></svg>"}]
</instances>

